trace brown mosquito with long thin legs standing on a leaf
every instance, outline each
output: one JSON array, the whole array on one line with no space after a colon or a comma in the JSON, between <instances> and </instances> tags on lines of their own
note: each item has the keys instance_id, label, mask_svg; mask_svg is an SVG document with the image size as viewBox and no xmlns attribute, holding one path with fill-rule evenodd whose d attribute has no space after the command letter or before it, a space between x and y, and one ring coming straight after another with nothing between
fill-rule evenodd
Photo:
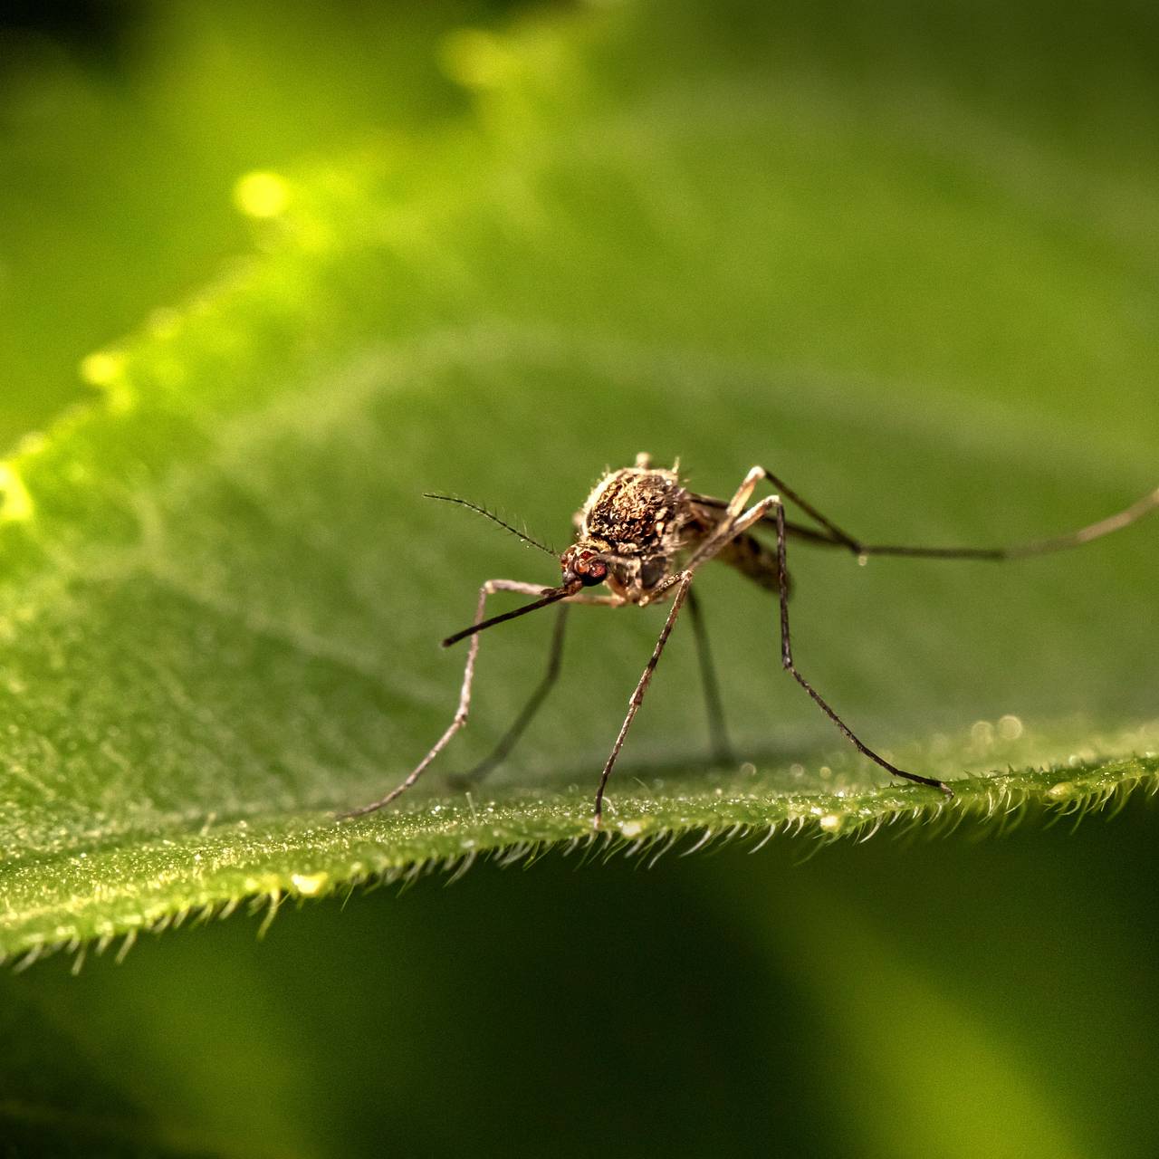
<instances>
[{"instance_id":1,"label":"brown mosquito with long thin legs standing on a leaf","mask_svg":"<svg viewBox=\"0 0 1159 1159\"><path fill-rule=\"evenodd\" d=\"M777 494L766 495L752 502L757 487L770 484ZM524 542L559 560L561 582L556 586L523 583L515 580L488 580L479 589L475 619L471 627L455 632L443 641L450 648L462 640L469 640L467 659L462 671L459 707L454 719L435 742L425 757L410 771L406 779L378 801L352 809L342 817L357 817L391 804L409 789L427 771L431 761L446 748L451 738L466 723L471 709L471 690L479 655L479 634L498 624L505 624L529 612L557 604L555 630L552 636L547 671L515 723L503 735L495 751L468 775L482 775L503 760L527 728L531 719L554 685L560 672L563 654L563 635L567 611L573 604L599 607L644 607L661 600L671 600L668 619L661 628L644 670L628 700L628 713L612 745L599 787L592 824L600 826L604 812L604 793L607 779L628 729L643 704L644 693L659 663L664 646L672 633L677 617L685 604L692 615L693 633L700 661L701 679L708 707L709 728L714 755L726 759L729 755L724 739L723 713L720 692L708 648L699 604L692 591L692 581L704 564L720 560L731 564L742 575L761 588L777 595L780 604L781 666L812 698L821 710L837 726L845 738L863 756L880 765L894 777L924 785L942 793L952 800L954 790L933 777L906 772L888 761L870 749L837 714L836 709L801 675L793 658L789 639L789 574L786 564L786 544L790 538L823 547L837 547L852 552L860 562L870 555L903 555L940 560L1019 560L1032 555L1060 552L1093 539L1100 539L1114 531L1135 523L1159 506L1159 488L1143 496L1117 515L1101 519L1079 531L1051 539L1040 539L1012 547L912 547L892 544L866 544L843 531L836 523L822 515L811 503L792 490L785 482L764 467L753 467L736 489L730 500L713 498L688 490L680 482L679 462L671 469L654 467L651 457L637 454L635 466L608 471L596 483L581 511L575 516L575 541L562 554L551 548L483 508L466 500L449 495L428 495L428 498L458 503L478 511L512 532ZM808 520L797 523L786 517L785 504L792 503ZM772 531L775 542L770 546L758 538L758 532ZM591 589L603 588L596 592ZM500 615L486 617L487 600L496 592L515 592L535 598L520 607Z\"/></svg>"}]
</instances>

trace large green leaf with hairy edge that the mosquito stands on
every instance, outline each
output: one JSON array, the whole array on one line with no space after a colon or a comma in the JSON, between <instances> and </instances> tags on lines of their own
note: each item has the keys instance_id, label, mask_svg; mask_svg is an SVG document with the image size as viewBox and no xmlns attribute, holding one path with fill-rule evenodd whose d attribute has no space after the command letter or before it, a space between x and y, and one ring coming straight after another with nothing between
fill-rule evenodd
<instances>
[{"instance_id":1,"label":"large green leaf with hairy edge that the mosquito stands on","mask_svg":"<svg viewBox=\"0 0 1159 1159\"><path fill-rule=\"evenodd\" d=\"M986 545L1154 487L1159 206L1127 151L1000 105L979 126L953 85L916 125L904 68L821 68L806 102L770 29L681 20L453 36L474 119L239 187L258 256L88 358L102 402L5 468L0 950L595 840L659 608L577 610L560 688L467 796L440 778L513 719L549 617L488 634L442 768L334 821L445 728L462 656L435 644L478 585L557 575L423 490L562 546L647 450L726 496L763 462L867 540ZM1033 181L996 175L1012 140ZM1107 212L1060 202L1064 174ZM1110 213L1128 194L1143 211ZM1153 785L1156 551L1151 524L1005 568L794 546L801 669L952 806L844 748L779 669L767 593L706 570L746 759L701 756L678 625L608 840L998 825Z\"/></svg>"}]
</instances>

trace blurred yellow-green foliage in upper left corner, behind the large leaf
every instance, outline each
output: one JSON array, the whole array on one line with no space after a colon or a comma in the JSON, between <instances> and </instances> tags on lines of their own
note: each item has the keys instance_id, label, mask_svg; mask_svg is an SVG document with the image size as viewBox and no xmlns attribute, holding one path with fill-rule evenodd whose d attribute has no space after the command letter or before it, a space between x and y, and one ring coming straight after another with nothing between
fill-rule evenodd
<instances>
[{"instance_id":1,"label":"blurred yellow-green foliage in upper left corner, behind the large leaf","mask_svg":"<svg viewBox=\"0 0 1159 1159\"><path fill-rule=\"evenodd\" d=\"M0 43L5 447L86 398L74 367L95 344L246 245L228 199L240 173L465 104L430 51L461 20L453 3L103 17L83 52L12 29Z\"/></svg>"}]
</instances>

